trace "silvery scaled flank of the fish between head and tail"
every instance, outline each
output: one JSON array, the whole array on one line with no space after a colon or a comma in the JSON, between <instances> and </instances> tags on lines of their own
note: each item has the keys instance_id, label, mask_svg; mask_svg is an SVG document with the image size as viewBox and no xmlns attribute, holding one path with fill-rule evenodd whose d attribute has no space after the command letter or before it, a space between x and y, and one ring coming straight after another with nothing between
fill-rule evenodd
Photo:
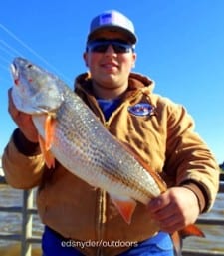
<instances>
[{"instance_id":1,"label":"silvery scaled flank of the fish between head and tail","mask_svg":"<svg viewBox=\"0 0 224 256\"><path fill-rule=\"evenodd\" d=\"M96 179L99 180L103 175L104 178L99 185L106 186L106 190L108 190L107 184L116 187L116 180L121 180L121 189L129 186L131 190L140 191L146 197L145 200L160 194L154 180L125 149L120 147L119 143L117 144L112 135L106 132L93 113L73 92L65 93L64 103L58 109L56 118L58 123L55 141L59 144L53 146L52 150L56 158L60 155L67 156L63 162L68 169L78 168L77 162L80 162L84 178L89 179L90 184L96 186ZM72 132L73 130L79 132ZM121 158L120 155L124 157ZM84 167L85 171L83 171Z\"/></svg>"}]
</instances>

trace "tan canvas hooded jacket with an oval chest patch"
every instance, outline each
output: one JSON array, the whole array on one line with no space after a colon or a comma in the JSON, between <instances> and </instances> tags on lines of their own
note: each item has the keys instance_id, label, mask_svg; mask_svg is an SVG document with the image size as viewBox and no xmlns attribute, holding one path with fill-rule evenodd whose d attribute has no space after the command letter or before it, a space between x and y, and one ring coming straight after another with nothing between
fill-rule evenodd
<instances>
[{"instance_id":1,"label":"tan canvas hooded jacket with an oval chest patch","mask_svg":"<svg viewBox=\"0 0 224 256\"><path fill-rule=\"evenodd\" d=\"M106 121L92 95L88 74L76 80L76 92L121 142L128 143L168 186L185 185L198 196L201 211L215 200L219 182L218 165L206 143L194 131L186 110L152 93L153 83L139 74L129 77L122 104ZM137 116L130 107L147 103L149 115ZM30 148L30 149L29 149ZM47 169L39 147L28 142L17 129L5 148L2 164L7 181L16 188L39 186L37 205L44 224L73 241L93 241L80 250L85 255L116 255L153 236L157 225L144 205L138 203L130 225L126 224L105 191L89 186L57 162ZM105 241L104 246L102 241ZM116 246L107 242L119 241ZM126 241L127 243L120 243Z\"/></svg>"}]
</instances>

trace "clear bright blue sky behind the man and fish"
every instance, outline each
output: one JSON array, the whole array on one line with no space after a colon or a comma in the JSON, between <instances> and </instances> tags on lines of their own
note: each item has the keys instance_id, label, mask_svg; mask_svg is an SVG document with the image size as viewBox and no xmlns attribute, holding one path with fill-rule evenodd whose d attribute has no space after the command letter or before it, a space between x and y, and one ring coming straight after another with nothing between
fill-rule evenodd
<instances>
[{"instance_id":1,"label":"clear bright blue sky behind the man and fish","mask_svg":"<svg viewBox=\"0 0 224 256\"><path fill-rule=\"evenodd\" d=\"M8 114L10 63L23 56L61 77L71 88L87 68L89 25L115 9L138 37L133 72L155 81L154 92L183 105L195 130L224 161L223 0L8 0L0 9L0 155L15 124Z\"/></svg>"}]
</instances>

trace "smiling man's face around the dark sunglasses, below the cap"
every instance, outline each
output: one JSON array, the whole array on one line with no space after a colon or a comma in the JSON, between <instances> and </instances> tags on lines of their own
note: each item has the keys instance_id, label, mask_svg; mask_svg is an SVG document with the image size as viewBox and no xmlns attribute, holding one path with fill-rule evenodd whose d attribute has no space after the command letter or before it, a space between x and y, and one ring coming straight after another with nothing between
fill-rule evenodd
<instances>
[{"instance_id":1,"label":"smiling man's face around the dark sunglasses, below the cap","mask_svg":"<svg viewBox=\"0 0 224 256\"><path fill-rule=\"evenodd\" d=\"M120 32L102 31L95 36L95 40L98 39L128 43L126 37ZM126 53L116 53L112 45L109 45L105 52L92 52L90 49L84 53L84 60L89 67L93 81L108 89L127 85L135 59L136 54L132 50Z\"/></svg>"}]
</instances>

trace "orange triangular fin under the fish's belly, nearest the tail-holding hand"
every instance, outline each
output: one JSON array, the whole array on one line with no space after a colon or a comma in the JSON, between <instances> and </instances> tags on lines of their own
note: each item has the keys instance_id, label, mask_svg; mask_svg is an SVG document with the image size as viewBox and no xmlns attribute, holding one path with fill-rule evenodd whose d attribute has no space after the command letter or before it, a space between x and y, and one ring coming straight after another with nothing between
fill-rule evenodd
<instances>
[{"instance_id":1,"label":"orange triangular fin under the fish's belly, nearest the tail-holding hand","mask_svg":"<svg viewBox=\"0 0 224 256\"><path fill-rule=\"evenodd\" d=\"M111 195L111 199L116 209L127 224L131 223L132 214L136 207L136 202L129 197L119 197Z\"/></svg>"}]
</instances>

